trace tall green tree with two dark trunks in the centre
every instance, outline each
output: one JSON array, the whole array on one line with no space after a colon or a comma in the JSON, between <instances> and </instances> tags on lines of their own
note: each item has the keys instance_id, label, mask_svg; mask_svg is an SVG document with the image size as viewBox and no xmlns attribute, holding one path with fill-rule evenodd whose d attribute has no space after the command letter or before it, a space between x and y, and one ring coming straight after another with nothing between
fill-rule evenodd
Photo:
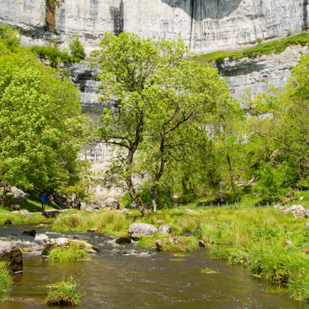
<instances>
[{"instance_id":1,"label":"tall green tree with two dark trunks in the centre","mask_svg":"<svg viewBox=\"0 0 309 309\"><path fill-rule=\"evenodd\" d=\"M122 148L128 193L143 215L148 213L133 183L146 165L151 179L152 208L157 184L182 130L229 97L216 69L185 60L183 41L142 40L135 34L104 34L93 63L100 66L101 100L116 100L116 110L104 108L100 139ZM141 145L145 145L142 146ZM138 151L139 162L135 161ZM122 156L124 158L124 155Z\"/></svg>"}]
</instances>

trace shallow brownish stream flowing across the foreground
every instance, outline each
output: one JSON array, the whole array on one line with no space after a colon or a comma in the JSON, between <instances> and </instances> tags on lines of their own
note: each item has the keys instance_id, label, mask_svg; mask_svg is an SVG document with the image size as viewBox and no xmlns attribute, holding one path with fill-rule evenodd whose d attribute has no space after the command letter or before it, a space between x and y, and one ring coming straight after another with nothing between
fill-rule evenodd
<instances>
[{"instance_id":1,"label":"shallow brownish stream flowing across the foreground","mask_svg":"<svg viewBox=\"0 0 309 309\"><path fill-rule=\"evenodd\" d=\"M38 232L36 238L21 234L32 228ZM43 248L43 234L87 240L101 251L83 262L50 262L41 251L23 253L23 272L14 275L14 286L3 293L9 300L0 302L1 309L50 308L45 300L49 284L69 276L83 288L81 308L309 308L287 295L267 293L266 282L242 266L211 260L207 249L159 253L136 244L115 244L115 238L95 233L0 227L0 239L19 247ZM201 273L205 267L218 273Z\"/></svg>"}]
</instances>

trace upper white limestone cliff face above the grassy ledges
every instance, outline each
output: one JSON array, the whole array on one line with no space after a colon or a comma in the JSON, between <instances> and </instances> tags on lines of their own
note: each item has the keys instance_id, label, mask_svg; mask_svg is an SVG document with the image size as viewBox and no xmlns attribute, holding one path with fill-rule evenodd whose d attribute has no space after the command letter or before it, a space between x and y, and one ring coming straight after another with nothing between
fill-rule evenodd
<instances>
[{"instance_id":1,"label":"upper white limestone cliff face above the grassy ledges","mask_svg":"<svg viewBox=\"0 0 309 309\"><path fill-rule=\"evenodd\" d=\"M102 34L135 32L148 38L183 38L194 52L235 49L300 32L305 0L58 0L56 27L47 33L45 0L0 0L0 23L21 29L23 43L56 38L69 47L78 32L87 54ZM305 16L305 17L304 17Z\"/></svg>"}]
</instances>

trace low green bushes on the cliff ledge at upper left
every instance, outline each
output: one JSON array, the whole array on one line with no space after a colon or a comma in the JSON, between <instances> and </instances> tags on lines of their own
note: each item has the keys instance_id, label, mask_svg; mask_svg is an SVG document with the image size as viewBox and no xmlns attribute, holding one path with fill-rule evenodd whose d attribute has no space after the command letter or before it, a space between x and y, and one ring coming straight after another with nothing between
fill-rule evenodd
<instances>
[{"instance_id":1,"label":"low green bushes on the cliff ledge at upper left","mask_svg":"<svg viewBox=\"0 0 309 309\"><path fill-rule=\"evenodd\" d=\"M80 62L80 58L76 56L71 56L68 52L64 51L61 52L56 47L52 46L33 46L31 47L32 52L37 54L42 58L48 58L50 61L50 65L52 67L58 67L60 62L65 63L73 63L73 62Z\"/></svg>"}]
</instances>

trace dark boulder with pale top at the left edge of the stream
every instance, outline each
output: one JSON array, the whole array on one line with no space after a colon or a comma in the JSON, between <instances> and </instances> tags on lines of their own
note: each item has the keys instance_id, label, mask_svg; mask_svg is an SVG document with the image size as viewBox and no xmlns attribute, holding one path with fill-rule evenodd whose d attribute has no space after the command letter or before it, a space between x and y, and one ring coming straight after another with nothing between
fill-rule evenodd
<instances>
[{"instance_id":1,"label":"dark boulder with pale top at the left edge of the stream","mask_svg":"<svg viewBox=\"0 0 309 309\"><path fill-rule=\"evenodd\" d=\"M10 271L23 270L23 252L12 242L0 240L0 261L8 262Z\"/></svg>"}]
</instances>

